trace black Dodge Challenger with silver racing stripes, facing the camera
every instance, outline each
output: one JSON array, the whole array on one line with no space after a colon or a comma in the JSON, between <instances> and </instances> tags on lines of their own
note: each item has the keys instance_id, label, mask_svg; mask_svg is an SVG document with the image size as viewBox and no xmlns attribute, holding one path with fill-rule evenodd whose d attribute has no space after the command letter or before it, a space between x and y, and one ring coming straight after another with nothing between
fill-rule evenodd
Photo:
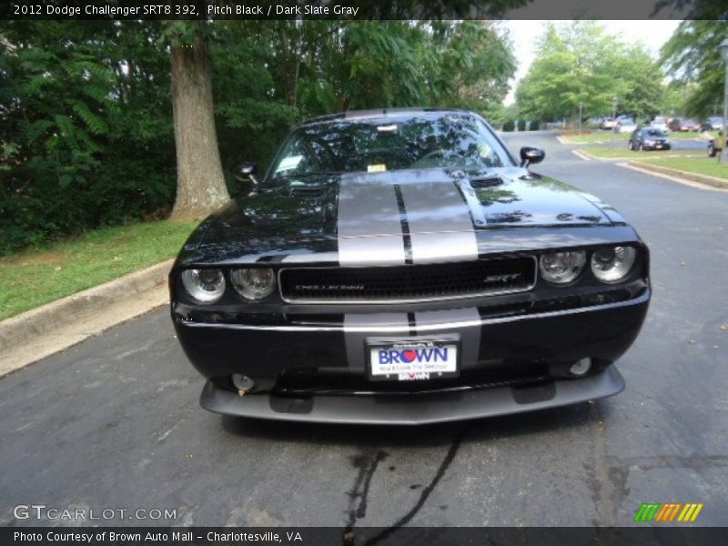
<instances>
[{"instance_id":1,"label":"black Dodge Challenger with silver racing stripes, facing the camera","mask_svg":"<svg viewBox=\"0 0 728 546\"><path fill-rule=\"evenodd\" d=\"M649 253L596 197L529 170L478 115L310 119L170 273L201 403L276 420L420 424L620 392Z\"/></svg>"}]
</instances>

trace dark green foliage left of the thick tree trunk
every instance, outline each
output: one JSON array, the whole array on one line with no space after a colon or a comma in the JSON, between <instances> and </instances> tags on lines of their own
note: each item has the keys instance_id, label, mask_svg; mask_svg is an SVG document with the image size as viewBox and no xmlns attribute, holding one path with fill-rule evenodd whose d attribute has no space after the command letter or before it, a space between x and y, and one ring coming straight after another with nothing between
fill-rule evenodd
<instances>
[{"instance_id":1,"label":"dark green foliage left of the thick tree trunk","mask_svg":"<svg viewBox=\"0 0 728 546\"><path fill-rule=\"evenodd\" d=\"M154 25L5 22L0 254L168 207L168 59Z\"/></svg>"}]
</instances>

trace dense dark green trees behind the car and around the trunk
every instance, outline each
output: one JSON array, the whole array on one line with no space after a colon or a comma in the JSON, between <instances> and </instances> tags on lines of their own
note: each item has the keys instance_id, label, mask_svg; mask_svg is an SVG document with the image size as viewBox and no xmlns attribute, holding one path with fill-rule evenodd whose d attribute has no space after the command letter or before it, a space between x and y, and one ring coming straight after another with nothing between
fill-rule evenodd
<instances>
[{"instance_id":1,"label":"dense dark green trees behind the car and around the trunk","mask_svg":"<svg viewBox=\"0 0 728 546\"><path fill-rule=\"evenodd\" d=\"M495 7L519 3L502 0ZM0 22L0 254L160 216L176 191L169 47L202 40L231 195L298 120L452 106L504 121L515 72L487 21Z\"/></svg>"}]
</instances>

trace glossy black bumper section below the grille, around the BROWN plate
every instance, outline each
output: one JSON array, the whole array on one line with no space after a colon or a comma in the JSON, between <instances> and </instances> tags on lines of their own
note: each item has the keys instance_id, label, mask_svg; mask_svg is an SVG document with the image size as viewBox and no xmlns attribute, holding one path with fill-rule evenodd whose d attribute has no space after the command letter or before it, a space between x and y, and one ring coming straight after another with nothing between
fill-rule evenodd
<instances>
[{"instance_id":1,"label":"glossy black bumper section below the grille, around the BROWN plate","mask_svg":"<svg viewBox=\"0 0 728 546\"><path fill-rule=\"evenodd\" d=\"M612 363L630 348L647 313L650 289L636 298L561 310L497 316L492 308L411 313L290 314L265 322L190 322L175 317L177 338L207 379L242 374L276 379L288 369L344 369L366 374L369 337L460 336L462 371L515 362ZM557 302L558 303L558 302ZM568 303L568 301L567 301Z\"/></svg>"}]
</instances>

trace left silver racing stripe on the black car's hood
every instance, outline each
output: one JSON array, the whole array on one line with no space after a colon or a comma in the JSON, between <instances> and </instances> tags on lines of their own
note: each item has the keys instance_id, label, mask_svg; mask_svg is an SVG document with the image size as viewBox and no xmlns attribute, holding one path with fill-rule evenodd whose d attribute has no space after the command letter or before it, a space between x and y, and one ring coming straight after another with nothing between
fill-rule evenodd
<instances>
[{"instance_id":1,"label":"left silver racing stripe on the black car's hood","mask_svg":"<svg viewBox=\"0 0 728 546\"><path fill-rule=\"evenodd\" d=\"M339 188L339 264L394 266L405 263L397 195L389 173L345 175Z\"/></svg>"}]
</instances>

